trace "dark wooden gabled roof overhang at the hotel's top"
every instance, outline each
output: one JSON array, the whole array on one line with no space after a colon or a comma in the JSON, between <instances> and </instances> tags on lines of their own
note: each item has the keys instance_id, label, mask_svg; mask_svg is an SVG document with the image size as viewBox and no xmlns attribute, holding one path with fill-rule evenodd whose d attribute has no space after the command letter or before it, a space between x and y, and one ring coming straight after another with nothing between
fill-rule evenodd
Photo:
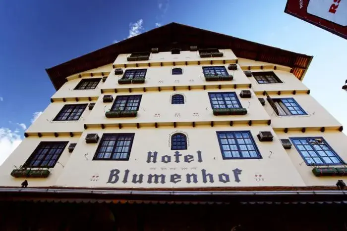
<instances>
[{"instance_id":1,"label":"dark wooden gabled roof overhang at the hotel's top","mask_svg":"<svg viewBox=\"0 0 347 231\"><path fill-rule=\"evenodd\" d=\"M170 51L174 47L189 50L190 46L231 49L239 58L288 66L293 69L293 74L300 80L305 75L313 58L313 56L262 45L229 35L170 23L48 68L46 71L54 87L58 90L65 83L66 77L113 63L117 55L121 53L149 51L152 47L158 47L159 51Z\"/></svg>"}]
</instances>

